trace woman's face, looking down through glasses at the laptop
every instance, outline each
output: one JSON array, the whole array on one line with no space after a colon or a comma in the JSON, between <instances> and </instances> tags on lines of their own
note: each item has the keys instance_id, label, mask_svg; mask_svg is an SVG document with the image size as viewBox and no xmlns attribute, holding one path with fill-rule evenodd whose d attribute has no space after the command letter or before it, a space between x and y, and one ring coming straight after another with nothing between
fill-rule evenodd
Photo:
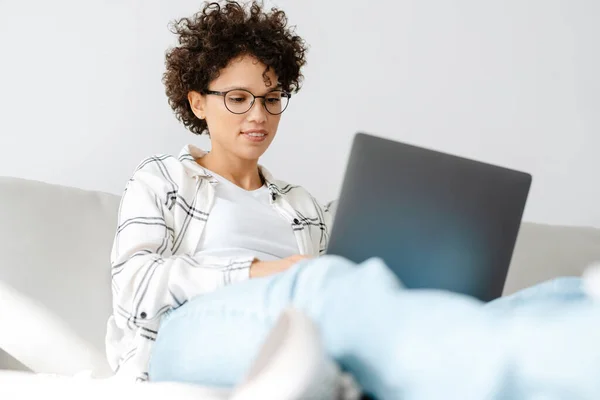
<instances>
[{"instance_id":1,"label":"woman's face, looking down through glasses at the laptop","mask_svg":"<svg viewBox=\"0 0 600 400\"><path fill-rule=\"evenodd\" d=\"M265 82L265 69L266 65L252 56L239 57L221 70L219 77L208 85L208 90L244 89L255 96L276 96L277 93L271 92L279 89L277 76L269 69L266 74L269 79ZM194 114L206 119L213 152L217 150L243 160L258 160L275 138L281 115L270 114L263 106L263 99L256 99L250 110L243 114L228 110L224 96L190 92L188 99ZM231 92L226 101L230 108L239 112L244 109L242 104L251 101L251 96L245 92ZM271 99L271 102L276 103L277 99Z\"/></svg>"}]
</instances>

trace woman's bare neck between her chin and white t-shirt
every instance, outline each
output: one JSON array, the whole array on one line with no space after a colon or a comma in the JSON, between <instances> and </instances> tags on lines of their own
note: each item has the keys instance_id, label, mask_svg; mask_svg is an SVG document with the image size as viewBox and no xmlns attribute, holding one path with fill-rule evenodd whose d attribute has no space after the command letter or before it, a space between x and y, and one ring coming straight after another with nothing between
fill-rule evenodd
<instances>
[{"instance_id":1,"label":"woman's bare neck between her chin and white t-shirt","mask_svg":"<svg viewBox=\"0 0 600 400\"><path fill-rule=\"evenodd\" d=\"M256 190L264 184L258 160L243 160L213 148L196 162L245 190Z\"/></svg>"}]
</instances>

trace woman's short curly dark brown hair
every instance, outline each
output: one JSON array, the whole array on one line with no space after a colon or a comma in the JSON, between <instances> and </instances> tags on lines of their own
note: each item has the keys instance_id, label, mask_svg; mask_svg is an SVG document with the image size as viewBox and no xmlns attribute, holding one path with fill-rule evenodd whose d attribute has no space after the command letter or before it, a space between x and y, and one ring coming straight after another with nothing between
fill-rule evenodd
<instances>
[{"instance_id":1,"label":"woman's short curly dark brown hair","mask_svg":"<svg viewBox=\"0 0 600 400\"><path fill-rule=\"evenodd\" d=\"M192 112L188 93L207 90L219 72L239 56L249 54L265 64L265 82L272 68L282 90L300 90L307 47L277 8L264 11L256 1L249 7L236 1L206 3L200 12L174 21L171 27L179 45L167 51L163 83L175 116L192 133L208 133L208 127Z\"/></svg>"}]
</instances>

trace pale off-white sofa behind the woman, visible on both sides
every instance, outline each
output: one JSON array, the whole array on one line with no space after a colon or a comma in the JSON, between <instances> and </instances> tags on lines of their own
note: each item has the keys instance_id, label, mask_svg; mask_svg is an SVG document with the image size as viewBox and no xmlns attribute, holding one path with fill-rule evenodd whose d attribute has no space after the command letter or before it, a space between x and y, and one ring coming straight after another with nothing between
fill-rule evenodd
<instances>
[{"instance_id":1,"label":"pale off-white sofa behind the woman, visible on both sides","mask_svg":"<svg viewBox=\"0 0 600 400\"><path fill-rule=\"evenodd\" d=\"M0 369L111 374L104 332L118 205L111 194L0 177L0 326L12 324L13 312L14 323L28 327L12 329L12 337L0 329ZM524 223L505 293L578 276L599 260L600 229ZM27 315L3 309L2 296L18 300Z\"/></svg>"}]
</instances>

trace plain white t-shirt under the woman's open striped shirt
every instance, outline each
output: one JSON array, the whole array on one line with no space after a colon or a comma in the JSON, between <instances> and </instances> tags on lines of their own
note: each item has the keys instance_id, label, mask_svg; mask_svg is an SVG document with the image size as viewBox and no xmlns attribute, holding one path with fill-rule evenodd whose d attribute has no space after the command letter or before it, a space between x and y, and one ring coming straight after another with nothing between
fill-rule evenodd
<instances>
[{"instance_id":1,"label":"plain white t-shirt under the woman's open striped shirt","mask_svg":"<svg viewBox=\"0 0 600 400\"><path fill-rule=\"evenodd\" d=\"M214 174L215 200L200 239L198 253L211 256L254 256L272 261L299 254L289 222L280 215L262 186L245 190Z\"/></svg>"}]
</instances>

